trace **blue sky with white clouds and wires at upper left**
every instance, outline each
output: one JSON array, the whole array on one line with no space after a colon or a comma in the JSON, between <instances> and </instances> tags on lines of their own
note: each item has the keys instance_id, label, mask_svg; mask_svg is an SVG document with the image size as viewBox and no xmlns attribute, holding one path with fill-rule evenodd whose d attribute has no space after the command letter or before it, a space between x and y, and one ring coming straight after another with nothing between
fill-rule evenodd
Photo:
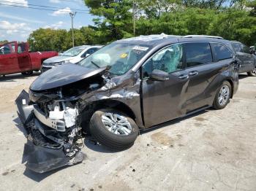
<instances>
[{"instance_id":1,"label":"blue sky with white clouds and wires at upper left","mask_svg":"<svg viewBox=\"0 0 256 191\"><path fill-rule=\"evenodd\" d=\"M34 7L32 5L45 6L38 8L52 10L26 8ZM37 28L69 29L70 11L78 12L74 17L74 28L94 25L94 17L89 11L83 10L88 10L83 0L0 0L0 41L7 39L26 42L31 31Z\"/></svg>"}]
</instances>

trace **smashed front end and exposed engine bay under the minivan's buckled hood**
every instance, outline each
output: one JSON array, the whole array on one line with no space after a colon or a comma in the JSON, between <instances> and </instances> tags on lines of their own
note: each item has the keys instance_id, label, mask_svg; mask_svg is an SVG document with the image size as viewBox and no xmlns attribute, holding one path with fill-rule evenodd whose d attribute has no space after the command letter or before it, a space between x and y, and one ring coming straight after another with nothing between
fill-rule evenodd
<instances>
[{"instance_id":1,"label":"smashed front end and exposed engine bay under the minivan's buckled hood","mask_svg":"<svg viewBox=\"0 0 256 191\"><path fill-rule=\"evenodd\" d=\"M24 149L29 156L26 167L39 173L86 159L80 148L82 138L88 133L86 129L94 111L93 102L114 98L139 99L137 92L122 87L111 92L110 89L117 86L116 82L102 72L45 90L33 87L34 84L29 93L23 90L15 102L28 134Z\"/></svg>"}]
</instances>

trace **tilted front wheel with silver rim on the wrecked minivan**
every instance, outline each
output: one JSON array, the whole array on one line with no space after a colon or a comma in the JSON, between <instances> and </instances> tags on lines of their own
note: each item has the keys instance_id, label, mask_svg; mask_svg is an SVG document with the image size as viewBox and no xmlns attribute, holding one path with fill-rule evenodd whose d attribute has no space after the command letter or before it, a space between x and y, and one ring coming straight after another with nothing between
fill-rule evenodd
<instances>
[{"instance_id":1,"label":"tilted front wheel with silver rim on the wrecked minivan","mask_svg":"<svg viewBox=\"0 0 256 191\"><path fill-rule=\"evenodd\" d=\"M139 129L127 114L115 109L100 109L91 117L90 132L99 144L119 151L134 144Z\"/></svg>"}]
</instances>

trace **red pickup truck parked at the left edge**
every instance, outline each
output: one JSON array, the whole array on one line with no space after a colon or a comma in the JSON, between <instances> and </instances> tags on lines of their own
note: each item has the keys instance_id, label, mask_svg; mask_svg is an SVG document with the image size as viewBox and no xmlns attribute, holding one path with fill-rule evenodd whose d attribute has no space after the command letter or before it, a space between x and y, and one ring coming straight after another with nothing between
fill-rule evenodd
<instances>
[{"instance_id":1,"label":"red pickup truck parked at the left edge","mask_svg":"<svg viewBox=\"0 0 256 191\"><path fill-rule=\"evenodd\" d=\"M8 42L0 44L0 75L32 74L39 71L42 62L58 55L58 52L29 52L27 42Z\"/></svg>"}]
</instances>

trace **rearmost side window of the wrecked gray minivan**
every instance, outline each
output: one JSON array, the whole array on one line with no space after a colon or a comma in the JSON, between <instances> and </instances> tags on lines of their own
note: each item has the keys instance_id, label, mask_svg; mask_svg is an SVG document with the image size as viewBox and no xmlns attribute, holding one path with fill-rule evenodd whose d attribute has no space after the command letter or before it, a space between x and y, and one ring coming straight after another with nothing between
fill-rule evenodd
<instances>
[{"instance_id":1,"label":"rearmost side window of the wrecked gray minivan","mask_svg":"<svg viewBox=\"0 0 256 191\"><path fill-rule=\"evenodd\" d=\"M214 49L215 58L217 58L218 61L233 58L233 53L224 44L212 43L212 47Z\"/></svg>"}]
</instances>

